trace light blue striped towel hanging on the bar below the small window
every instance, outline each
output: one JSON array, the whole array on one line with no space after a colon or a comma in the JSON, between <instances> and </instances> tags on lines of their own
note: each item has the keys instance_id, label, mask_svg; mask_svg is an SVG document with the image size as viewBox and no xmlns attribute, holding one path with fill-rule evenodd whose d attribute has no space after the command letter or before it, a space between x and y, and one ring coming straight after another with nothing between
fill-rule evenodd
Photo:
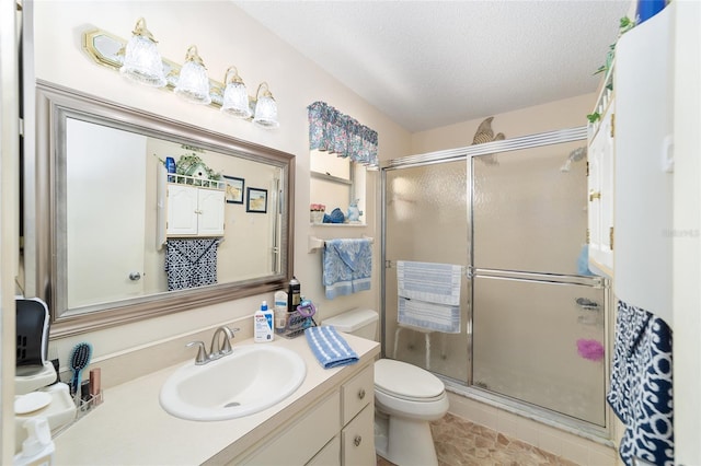
<instances>
[{"instance_id":1,"label":"light blue striped towel hanging on the bar below the small window","mask_svg":"<svg viewBox=\"0 0 701 466\"><path fill-rule=\"evenodd\" d=\"M323 255L323 286L327 300L369 290L371 276L371 240L326 240Z\"/></svg>"}]
</instances>

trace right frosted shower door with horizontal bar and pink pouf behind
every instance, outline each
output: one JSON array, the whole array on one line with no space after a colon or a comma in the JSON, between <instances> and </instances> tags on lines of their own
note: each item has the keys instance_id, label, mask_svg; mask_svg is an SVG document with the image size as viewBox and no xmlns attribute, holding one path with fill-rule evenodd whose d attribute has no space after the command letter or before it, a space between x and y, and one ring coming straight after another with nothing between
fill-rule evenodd
<instances>
[{"instance_id":1,"label":"right frosted shower door with horizontal bar and pink pouf behind","mask_svg":"<svg viewBox=\"0 0 701 466\"><path fill-rule=\"evenodd\" d=\"M568 142L472 158L472 384L606 426L605 301L581 268L586 163Z\"/></svg>"}]
</instances>

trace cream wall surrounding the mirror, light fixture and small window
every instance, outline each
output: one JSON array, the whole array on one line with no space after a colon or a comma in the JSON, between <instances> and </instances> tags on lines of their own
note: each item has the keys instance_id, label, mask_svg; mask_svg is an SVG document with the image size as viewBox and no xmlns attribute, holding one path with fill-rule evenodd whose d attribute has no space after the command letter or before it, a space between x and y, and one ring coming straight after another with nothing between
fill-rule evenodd
<instances>
[{"instance_id":1,"label":"cream wall surrounding the mirror, light fixture and small window","mask_svg":"<svg viewBox=\"0 0 701 466\"><path fill-rule=\"evenodd\" d=\"M267 81L278 103L280 128L265 131L249 123L225 117L211 108L182 102L172 93L133 84L117 72L95 65L81 50L81 33L85 28L100 27L128 38L139 16L147 20L149 30L159 40L163 57L180 61L186 48L196 44L211 78L221 81L226 69L235 65L250 93L260 82ZM378 306L379 273L375 273L369 292L338 298L333 302L321 299L321 255L319 252L308 254L308 235L355 237L361 234L377 236L379 233L375 208L367 209L366 228L344 230L337 226L324 228L323 231L312 231L310 228L307 220L307 106L314 101L325 101L377 130L380 135L380 156L383 159L407 154L410 135L241 10L227 1L38 1L35 4L35 57L37 79L297 155L295 273L302 283L302 293L319 302L322 316L355 306ZM369 206L375 205L377 179L376 173L369 174L366 195ZM379 242L375 251L377 264ZM59 356L65 364L77 341L90 341L94 348L93 361L99 362L110 354L252 315L264 299L273 301L272 295L253 296L66 338L55 342L51 352L54 357ZM187 358L186 350L183 350L183 358Z\"/></svg>"}]
</instances>

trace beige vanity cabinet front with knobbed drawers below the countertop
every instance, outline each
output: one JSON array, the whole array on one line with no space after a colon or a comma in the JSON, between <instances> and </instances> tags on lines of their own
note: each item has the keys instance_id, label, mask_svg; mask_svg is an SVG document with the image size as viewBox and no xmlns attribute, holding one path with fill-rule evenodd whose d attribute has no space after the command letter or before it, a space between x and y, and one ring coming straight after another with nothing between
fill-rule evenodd
<instances>
[{"instance_id":1,"label":"beige vanity cabinet front with knobbed drawers below the countertop","mask_svg":"<svg viewBox=\"0 0 701 466\"><path fill-rule=\"evenodd\" d=\"M370 465L375 454L375 375L364 364L321 401L231 465Z\"/></svg>"}]
</instances>

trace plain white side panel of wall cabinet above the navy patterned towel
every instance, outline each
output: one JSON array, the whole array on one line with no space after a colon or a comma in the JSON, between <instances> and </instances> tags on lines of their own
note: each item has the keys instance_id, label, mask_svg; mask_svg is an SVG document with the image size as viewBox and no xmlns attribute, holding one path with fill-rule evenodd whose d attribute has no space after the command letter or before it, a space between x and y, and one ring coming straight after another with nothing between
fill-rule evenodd
<instances>
[{"instance_id":1,"label":"plain white side panel of wall cabinet above the navy patterned towel","mask_svg":"<svg viewBox=\"0 0 701 466\"><path fill-rule=\"evenodd\" d=\"M670 8L671 7L671 8ZM616 46L616 275L628 304L671 325L674 2Z\"/></svg>"}]
</instances>

